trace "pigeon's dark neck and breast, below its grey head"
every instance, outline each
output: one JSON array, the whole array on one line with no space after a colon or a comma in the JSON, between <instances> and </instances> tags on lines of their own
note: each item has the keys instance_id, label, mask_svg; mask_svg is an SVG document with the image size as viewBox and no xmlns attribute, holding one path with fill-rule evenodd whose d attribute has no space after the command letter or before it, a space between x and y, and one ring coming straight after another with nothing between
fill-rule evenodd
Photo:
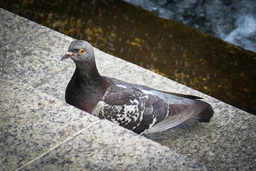
<instances>
[{"instance_id":1,"label":"pigeon's dark neck and breast, below its grey head","mask_svg":"<svg viewBox=\"0 0 256 171\"><path fill-rule=\"evenodd\" d=\"M108 88L106 79L100 76L95 61L76 63L74 74L67 85L66 102L91 113Z\"/></svg>"}]
</instances>

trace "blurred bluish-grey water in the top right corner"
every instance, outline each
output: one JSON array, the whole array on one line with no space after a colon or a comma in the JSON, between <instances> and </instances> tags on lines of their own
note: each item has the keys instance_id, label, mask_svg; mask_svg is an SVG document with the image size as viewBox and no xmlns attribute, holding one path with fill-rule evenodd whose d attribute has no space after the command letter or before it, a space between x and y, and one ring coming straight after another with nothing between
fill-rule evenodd
<instances>
[{"instance_id":1,"label":"blurred bluish-grey water in the top right corner","mask_svg":"<svg viewBox=\"0 0 256 171\"><path fill-rule=\"evenodd\" d=\"M255 0L125 0L256 52Z\"/></svg>"}]
</instances>

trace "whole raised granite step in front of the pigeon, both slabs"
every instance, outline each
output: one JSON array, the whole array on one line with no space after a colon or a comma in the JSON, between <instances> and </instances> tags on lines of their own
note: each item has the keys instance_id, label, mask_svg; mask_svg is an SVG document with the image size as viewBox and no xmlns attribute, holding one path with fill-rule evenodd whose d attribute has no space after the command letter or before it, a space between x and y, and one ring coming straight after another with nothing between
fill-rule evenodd
<instances>
[{"instance_id":1,"label":"whole raised granite step in front of the pigeon, both slabs","mask_svg":"<svg viewBox=\"0 0 256 171\"><path fill-rule=\"evenodd\" d=\"M0 88L3 170L208 170L200 162L9 76L0 75Z\"/></svg>"}]
</instances>

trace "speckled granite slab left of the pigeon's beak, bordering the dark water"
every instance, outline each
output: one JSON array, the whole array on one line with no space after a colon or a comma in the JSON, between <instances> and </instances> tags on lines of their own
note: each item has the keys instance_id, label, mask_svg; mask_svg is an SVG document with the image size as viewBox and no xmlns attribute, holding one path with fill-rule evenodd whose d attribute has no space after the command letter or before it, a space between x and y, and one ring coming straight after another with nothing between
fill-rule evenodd
<instances>
[{"instance_id":1,"label":"speckled granite slab left of the pigeon's beak, bordering the dark water","mask_svg":"<svg viewBox=\"0 0 256 171\"><path fill-rule=\"evenodd\" d=\"M0 10L1 73L38 86L67 67L59 57L72 38Z\"/></svg>"}]
</instances>

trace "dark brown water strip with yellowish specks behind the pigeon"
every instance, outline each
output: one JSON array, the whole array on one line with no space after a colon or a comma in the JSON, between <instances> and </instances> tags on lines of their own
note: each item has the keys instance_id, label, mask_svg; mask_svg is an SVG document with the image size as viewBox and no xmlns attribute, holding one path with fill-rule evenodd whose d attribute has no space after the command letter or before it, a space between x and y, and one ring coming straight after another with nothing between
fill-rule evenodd
<instances>
[{"instance_id":1,"label":"dark brown water strip with yellowish specks behind the pigeon","mask_svg":"<svg viewBox=\"0 0 256 171\"><path fill-rule=\"evenodd\" d=\"M0 0L0 7L256 114L251 51L119 0Z\"/></svg>"}]
</instances>

